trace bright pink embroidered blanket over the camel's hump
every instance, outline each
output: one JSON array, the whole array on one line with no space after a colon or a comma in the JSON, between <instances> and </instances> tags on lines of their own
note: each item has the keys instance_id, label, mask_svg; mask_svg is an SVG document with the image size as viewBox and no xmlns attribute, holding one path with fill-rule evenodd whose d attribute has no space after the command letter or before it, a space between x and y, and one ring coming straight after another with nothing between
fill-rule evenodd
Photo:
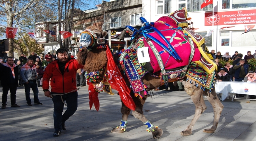
<instances>
[{"instance_id":1,"label":"bright pink embroidered blanket over the camel's hump","mask_svg":"<svg viewBox=\"0 0 256 141\"><path fill-rule=\"evenodd\" d=\"M155 22L154 27L158 29L163 34L163 36L165 36L165 38L171 43L171 45L174 47L174 49L182 59L182 60L175 60L172 56L169 57L168 52L164 51L163 48L160 47L160 45L158 45L158 43L151 40L161 56L163 64L165 65L165 69L174 69L177 67L188 65L189 56L191 53L190 44L187 39L187 36L185 36L181 30L177 29L178 26L176 26L176 22L169 16L163 16L159 18L158 21ZM165 46L167 46L167 43L165 43L165 41L160 37L158 33L154 32L149 34L155 37L156 39L158 39ZM161 71L158 65L156 56L154 55L154 52L152 51L152 49L150 48L150 46L148 45L144 37L139 38L137 40L136 47L149 47L148 53L150 56L150 64L154 69L153 73ZM192 61L198 61L198 60L200 60L200 52L198 48L195 46L195 54Z\"/></svg>"}]
</instances>

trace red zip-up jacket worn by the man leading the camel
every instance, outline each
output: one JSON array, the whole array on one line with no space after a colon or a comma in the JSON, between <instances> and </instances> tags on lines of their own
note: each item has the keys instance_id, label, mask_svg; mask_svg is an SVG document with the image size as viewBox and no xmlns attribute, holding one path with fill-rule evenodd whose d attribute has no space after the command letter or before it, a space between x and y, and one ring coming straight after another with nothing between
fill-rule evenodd
<instances>
[{"instance_id":1,"label":"red zip-up jacket worn by the man leading the camel","mask_svg":"<svg viewBox=\"0 0 256 141\"><path fill-rule=\"evenodd\" d=\"M45 68L43 75L43 89L49 89L49 80L51 81L51 91L57 93L66 93L76 89L76 71L83 68L75 59L67 61L64 75L59 70L58 60L52 61Z\"/></svg>"}]
</instances>

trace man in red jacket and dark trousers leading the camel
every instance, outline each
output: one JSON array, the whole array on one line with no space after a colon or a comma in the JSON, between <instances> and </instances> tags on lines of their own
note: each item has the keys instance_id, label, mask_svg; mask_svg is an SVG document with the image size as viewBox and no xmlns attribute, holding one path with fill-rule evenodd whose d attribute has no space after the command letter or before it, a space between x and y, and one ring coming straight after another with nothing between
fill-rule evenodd
<instances>
[{"instance_id":1,"label":"man in red jacket and dark trousers leading the camel","mask_svg":"<svg viewBox=\"0 0 256 141\"><path fill-rule=\"evenodd\" d=\"M69 58L67 52L65 48L58 49L56 52L58 60L49 63L43 75L43 90L45 96L51 98L51 94L63 94L62 99L67 102L67 110L62 115L64 103L61 100L61 96L52 96L55 129L53 136L59 136L61 129L66 130L65 121L76 112L78 105L76 71L83 68L83 65L78 64L77 60ZM52 92L49 91L49 80L51 81Z\"/></svg>"}]
</instances>

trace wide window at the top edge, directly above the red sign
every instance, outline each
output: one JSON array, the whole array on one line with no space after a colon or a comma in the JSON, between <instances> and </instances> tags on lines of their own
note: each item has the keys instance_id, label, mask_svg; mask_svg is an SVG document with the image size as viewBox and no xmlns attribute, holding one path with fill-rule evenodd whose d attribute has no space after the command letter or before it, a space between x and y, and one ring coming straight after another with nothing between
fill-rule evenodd
<instances>
[{"instance_id":1,"label":"wide window at the top edge, directly above the red sign","mask_svg":"<svg viewBox=\"0 0 256 141\"><path fill-rule=\"evenodd\" d=\"M256 7L255 0L222 0L222 9Z\"/></svg>"}]
</instances>

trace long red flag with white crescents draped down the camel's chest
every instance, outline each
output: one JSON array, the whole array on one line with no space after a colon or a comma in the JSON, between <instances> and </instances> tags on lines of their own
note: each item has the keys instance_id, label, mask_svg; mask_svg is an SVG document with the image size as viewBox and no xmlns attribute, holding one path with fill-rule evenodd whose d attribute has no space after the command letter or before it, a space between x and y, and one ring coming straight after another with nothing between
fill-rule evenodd
<instances>
[{"instance_id":1,"label":"long red flag with white crescents draped down the camel's chest","mask_svg":"<svg viewBox=\"0 0 256 141\"><path fill-rule=\"evenodd\" d=\"M118 94L124 103L124 105L131 110L135 110L135 103L130 96L130 89L126 85L124 78L122 78L122 74L119 71L115 61L113 59L112 53L109 47L106 47L107 58L108 58L108 83L111 88L118 91Z\"/></svg>"}]
</instances>

